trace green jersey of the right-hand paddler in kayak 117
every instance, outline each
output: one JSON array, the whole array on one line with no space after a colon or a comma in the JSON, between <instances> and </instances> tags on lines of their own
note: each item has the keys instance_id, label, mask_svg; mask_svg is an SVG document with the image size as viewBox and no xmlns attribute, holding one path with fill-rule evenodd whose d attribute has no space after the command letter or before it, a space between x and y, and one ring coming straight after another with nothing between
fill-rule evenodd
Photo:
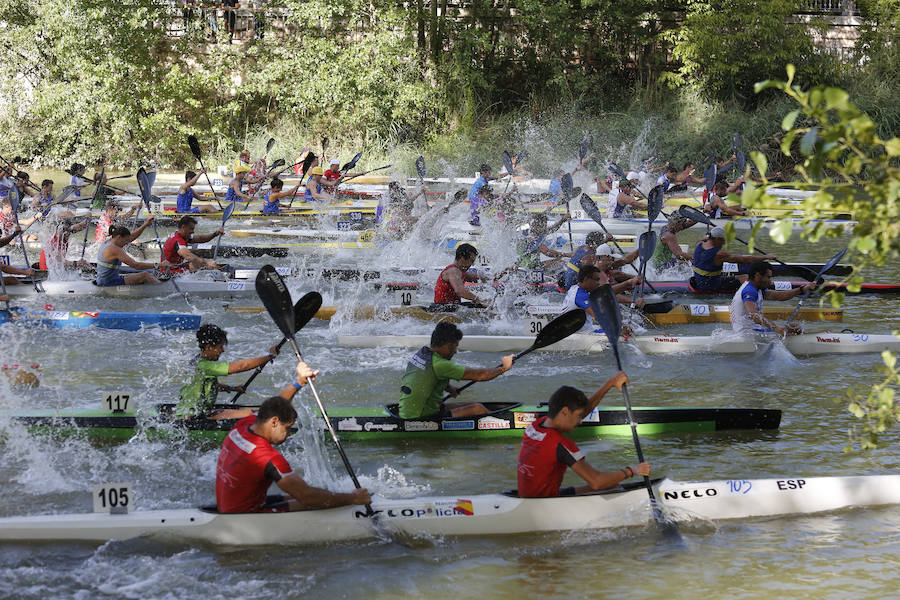
<instances>
[{"instance_id":1,"label":"green jersey of the right-hand paddler in kayak 117","mask_svg":"<svg viewBox=\"0 0 900 600\"><path fill-rule=\"evenodd\" d=\"M466 368L441 358L428 346L416 352L406 365L400 391L400 418L418 419L436 414L451 379L461 379Z\"/></svg>"}]
</instances>

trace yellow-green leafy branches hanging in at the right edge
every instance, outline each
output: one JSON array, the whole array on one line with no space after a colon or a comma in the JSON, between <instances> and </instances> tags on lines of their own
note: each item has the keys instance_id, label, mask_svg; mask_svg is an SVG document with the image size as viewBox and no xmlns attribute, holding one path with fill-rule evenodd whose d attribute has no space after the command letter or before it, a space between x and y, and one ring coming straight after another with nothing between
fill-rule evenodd
<instances>
[{"instance_id":1,"label":"yellow-green leafy branches hanging in at the right edge","mask_svg":"<svg viewBox=\"0 0 900 600\"><path fill-rule=\"evenodd\" d=\"M848 278L848 290L858 290L867 266L900 258L900 137L880 137L875 123L844 90L816 86L804 91L793 84L792 65L787 75L787 81L764 81L757 89L780 90L799 106L799 112L788 113L782 121L787 132L781 149L788 155L799 154L802 164L796 171L807 187L816 190L804 201L808 226L803 236L815 241L834 234L816 223L826 216L826 209L853 215L857 224L848 256L854 272ZM752 159L765 173L765 157L754 153ZM764 181L751 186L745 196L747 205L772 204L775 199L765 193L772 185ZM772 237L779 242L783 235L775 232L782 226L780 223L772 230ZM896 356L885 352L883 359L885 380L865 396L850 394L850 412L863 419L859 431L854 431L855 441L863 448L877 446L878 435L900 418L900 410L894 406L894 387L900 384Z\"/></svg>"}]
</instances>

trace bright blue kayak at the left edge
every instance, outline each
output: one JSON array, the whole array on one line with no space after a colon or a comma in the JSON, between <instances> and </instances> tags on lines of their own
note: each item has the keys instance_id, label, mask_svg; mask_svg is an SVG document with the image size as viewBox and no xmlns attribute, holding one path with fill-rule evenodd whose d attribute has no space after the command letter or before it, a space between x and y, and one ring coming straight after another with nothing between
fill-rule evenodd
<instances>
[{"instance_id":1,"label":"bright blue kayak at the left edge","mask_svg":"<svg viewBox=\"0 0 900 600\"><path fill-rule=\"evenodd\" d=\"M200 315L11 308L9 310L0 310L0 323L14 323L30 327L52 327L56 329L98 327L100 329L138 331L142 327L156 325L163 329L187 330L197 329L200 326Z\"/></svg>"}]
</instances>

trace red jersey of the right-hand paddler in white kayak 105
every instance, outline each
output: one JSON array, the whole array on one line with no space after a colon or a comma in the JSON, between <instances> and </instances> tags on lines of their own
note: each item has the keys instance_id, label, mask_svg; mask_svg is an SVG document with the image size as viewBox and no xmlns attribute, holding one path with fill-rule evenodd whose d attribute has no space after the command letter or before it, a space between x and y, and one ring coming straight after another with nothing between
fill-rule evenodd
<instances>
[{"instance_id":1,"label":"red jersey of the right-hand paddler in white kayak 105","mask_svg":"<svg viewBox=\"0 0 900 600\"><path fill-rule=\"evenodd\" d=\"M559 496L566 469L584 458L575 442L544 427L547 417L534 421L522 436L519 451L519 496L522 498L553 498Z\"/></svg>"}]
</instances>

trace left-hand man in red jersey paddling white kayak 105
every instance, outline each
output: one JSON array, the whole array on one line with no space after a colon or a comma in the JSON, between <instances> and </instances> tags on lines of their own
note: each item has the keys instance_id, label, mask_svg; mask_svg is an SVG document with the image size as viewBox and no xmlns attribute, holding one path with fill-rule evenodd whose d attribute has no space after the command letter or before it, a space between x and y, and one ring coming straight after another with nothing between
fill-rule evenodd
<instances>
[{"instance_id":1,"label":"left-hand man in red jersey paddling white kayak 105","mask_svg":"<svg viewBox=\"0 0 900 600\"><path fill-rule=\"evenodd\" d=\"M225 437L216 464L220 513L285 512L372 501L365 488L344 493L309 485L274 448L287 439L297 420L291 399L317 373L306 363L297 363L296 380L263 402L256 416L238 421ZM267 495L273 483L287 495Z\"/></svg>"}]
</instances>

